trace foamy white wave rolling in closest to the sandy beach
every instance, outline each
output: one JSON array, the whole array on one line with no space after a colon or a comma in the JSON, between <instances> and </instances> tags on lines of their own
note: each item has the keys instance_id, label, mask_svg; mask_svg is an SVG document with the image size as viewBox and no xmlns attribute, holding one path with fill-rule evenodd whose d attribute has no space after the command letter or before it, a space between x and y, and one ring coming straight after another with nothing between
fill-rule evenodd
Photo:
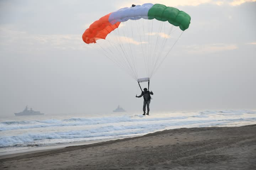
<instances>
[{"instance_id":1,"label":"foamy white wave rolling in closest to the sandy beach","mask_svg":"<svg viewBox=\"0 0 256 170\"><path fill-rule=\"evenodd\" d=\"M81 139L88 140L88 138L94 137L106 137L106 136L122 136L122 135L136 135L149 133L153 131L159 131L172 126L187 126L197 125L201 126L217 126L226 125L234 121L252 121L256 118L249 119L222 119L222 120L183 120L183 121L151 121L144 124L135 125L108 125L95 127L91 129L81 129L72 131L50 132L50 133L27 133L25 135L17 136L1 136L0 147L9 147L14 145L35 145L42 140L55 140L55 139ZM59 141L58 141L59 142ZM42 143L41 143L42 144Z\"/></svg>"}]
</instances>

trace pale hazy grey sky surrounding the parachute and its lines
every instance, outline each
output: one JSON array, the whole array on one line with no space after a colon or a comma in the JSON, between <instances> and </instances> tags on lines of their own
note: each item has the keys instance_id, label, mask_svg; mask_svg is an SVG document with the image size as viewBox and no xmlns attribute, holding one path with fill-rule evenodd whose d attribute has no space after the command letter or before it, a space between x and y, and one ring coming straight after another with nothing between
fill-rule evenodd
<instances>
[{"instance_id":1,"label":"pale hazy grey sky surrounding the parachute and its lines","mask_svg":"<svg viewBox=\"0 0 256 170\"><path fill-rule=\"evenodd\" d=\"M192 18L151 79L151 111L256 109L256 0L1 0L0 114L26 105L45 114L140 111L137 82L81 36L100 17L147 2Z\"/></svg>"}]
</instances>

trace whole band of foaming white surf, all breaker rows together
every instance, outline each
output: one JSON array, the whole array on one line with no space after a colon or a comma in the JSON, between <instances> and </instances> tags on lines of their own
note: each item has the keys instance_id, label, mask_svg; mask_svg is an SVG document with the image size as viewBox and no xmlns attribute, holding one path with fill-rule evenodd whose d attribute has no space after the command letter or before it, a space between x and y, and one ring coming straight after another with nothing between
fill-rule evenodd
<instances>
[{"instance_id":1,"label":"whole band of foaming white surf, all breaker rows together","mask_svg":"<svg viewBox=\"0 0 256 170\"><path fill-rule=\"evenodd\" d=\"M241 115L247 114L246 117ZM0 136L0 147L45 146L74 141L90 141L127 135L141 135L163 129L177 127L206 127L229 125L236 122L255 122L255 111L202 111L190 112L188 116L177 113L142 116L123 115L98 118L47 119L31 121L3 121L0 130L7 131ZM186 114L183 114L186 115ZM68 127L72 126L72 127ZM76 128L76 126L79 126ZM52 128L47 131L47 127ZM35 129L39 128L39 129ZM21 134L20 129L25 133ZM48 129L49 130L49 129ZM14 131L14 133L12 133Z\"/></svg>"}]
</instances>

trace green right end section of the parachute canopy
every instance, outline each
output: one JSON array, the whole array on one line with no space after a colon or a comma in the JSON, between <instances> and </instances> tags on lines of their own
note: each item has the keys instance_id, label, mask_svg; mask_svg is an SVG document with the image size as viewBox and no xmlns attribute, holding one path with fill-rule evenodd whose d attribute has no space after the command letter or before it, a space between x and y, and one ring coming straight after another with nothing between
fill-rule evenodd
<instances>
[{"instance_id":1,"label":"green right end section of the parachute canopy","mask_svg":"<svg viewBox=\"0 0 256 170\"><path fill-rule=\"evenodd\" d=\"M148 19L168 21L174 26L179 26L182 31L188 29L191 17L184 11L174 7L167 7L162 4L155 4L148 12Z\"/></svg>"}]
</instances>

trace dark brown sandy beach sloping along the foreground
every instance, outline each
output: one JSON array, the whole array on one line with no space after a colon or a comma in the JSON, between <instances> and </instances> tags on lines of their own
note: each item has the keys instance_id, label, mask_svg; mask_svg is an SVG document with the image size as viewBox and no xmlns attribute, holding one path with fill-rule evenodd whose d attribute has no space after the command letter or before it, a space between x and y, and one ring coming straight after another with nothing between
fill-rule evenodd
<instances>
[{"instance_id":1,"label":"dark brown sandy beach sloping along the foreground","mask_svg":"<svg viewBox=\"0 0 256 170\"><path fill-rule=\"evenodd\" d=\"M0 169L256 169L256 125L181 128L0 159Z\"/></svg>"}]
</instances>

